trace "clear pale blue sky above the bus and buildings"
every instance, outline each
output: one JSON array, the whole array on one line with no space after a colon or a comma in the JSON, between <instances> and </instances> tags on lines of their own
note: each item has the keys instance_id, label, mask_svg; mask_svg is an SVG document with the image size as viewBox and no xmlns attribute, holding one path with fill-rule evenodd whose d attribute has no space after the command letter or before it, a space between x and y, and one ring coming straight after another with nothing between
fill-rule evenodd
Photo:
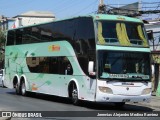
<instances>
[{"instance_id":1,"label":"clear pale blue sky above the bus and buildings","mask_svg":"<svg viewBox=\"0 0 160 120\"><path fill-rule=\"evenodd\" d=\"M141 1L149 3L160 2L160 0ZM134 2L138 2L138 0L104 0L105 4L116 4L114 6L117 7ZM99 0L0 0L0 15L14 17L27 11L50 11L57 19L64 19L94 13L98 9L98 4ZM149 5L153 6L152 4ZM160 17L159 14L158 17Z\"/></svg>"}]
</instances>

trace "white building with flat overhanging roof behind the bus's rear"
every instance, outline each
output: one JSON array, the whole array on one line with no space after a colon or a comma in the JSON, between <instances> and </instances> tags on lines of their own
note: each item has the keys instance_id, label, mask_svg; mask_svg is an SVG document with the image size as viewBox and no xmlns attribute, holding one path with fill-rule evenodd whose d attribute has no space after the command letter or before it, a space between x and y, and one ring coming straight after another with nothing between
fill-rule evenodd
<instances>
[{"instance_id":1,"label":"white building with flat overhanging roof behind the bus's rear","mask_svg":"<svg viewBox=\"0 0 160 120\"><path fill-rule=\"evenodd\" d=\"M54 14L48 11L28 11L13 18L15 19L15 23L12 25L12 28L55 20Z\"/></svg>"}]
</instances>

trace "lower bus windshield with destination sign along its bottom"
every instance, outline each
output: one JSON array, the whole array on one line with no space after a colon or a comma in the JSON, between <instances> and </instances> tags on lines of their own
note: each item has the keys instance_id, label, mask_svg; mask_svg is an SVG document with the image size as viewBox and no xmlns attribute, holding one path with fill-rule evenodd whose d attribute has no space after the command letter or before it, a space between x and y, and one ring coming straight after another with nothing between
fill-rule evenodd
<instances>
[{"instance_id":1,"label":"lower bus windshield with destination sign along its bottom","mask_svg":"<svg viewBox=\"0 0 160 120\"><path fill-rule=\"evenodd\" d=\"M150 80L149 53L98 51L99 79Z\"/></svg>"}]
</instances>

